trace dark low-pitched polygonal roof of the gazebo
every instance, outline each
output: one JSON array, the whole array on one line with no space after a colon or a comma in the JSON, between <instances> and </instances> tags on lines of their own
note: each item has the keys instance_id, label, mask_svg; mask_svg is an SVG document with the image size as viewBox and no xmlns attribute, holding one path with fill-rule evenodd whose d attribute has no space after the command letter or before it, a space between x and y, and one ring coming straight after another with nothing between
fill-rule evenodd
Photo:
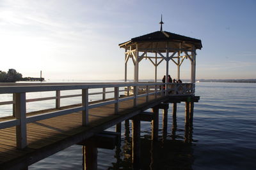
<instances>
[{"instance_id":1,"label":"dark low-pitched polygonal roof of the gazebo","mask_svg":"<svg viewBox=\"0 0 256 170\"><path fill-rule=\"evenodd\" d=\"M120 43L120 47L129 46L133 43L146 43L146 42L163 42L163 41L174 41L180 43L190 43L195 45L196 49L202 48L202 42L200 39L190 38L187 36L181 36L167 31L156 31L143 36L132 38L130 41Z\"/></svg>"}]
</instances>

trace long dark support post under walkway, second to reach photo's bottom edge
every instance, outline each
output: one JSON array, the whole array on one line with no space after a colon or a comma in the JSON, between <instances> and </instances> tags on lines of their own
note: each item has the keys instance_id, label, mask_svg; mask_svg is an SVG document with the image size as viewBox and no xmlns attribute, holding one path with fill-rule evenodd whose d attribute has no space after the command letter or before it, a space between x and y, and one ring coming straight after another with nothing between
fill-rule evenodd
<instances>
[{"instance_id":1,"label":"long dark support post under walkway, second to reach photo's bottom edge","mask_svg":"<svg viewBox=\"0 0 256 170\"><path fill-rule=\"evenodd\" d=\"M140 118L132 119L132 164L133 169L140 169Z\"/></svg>"}]
</instances>

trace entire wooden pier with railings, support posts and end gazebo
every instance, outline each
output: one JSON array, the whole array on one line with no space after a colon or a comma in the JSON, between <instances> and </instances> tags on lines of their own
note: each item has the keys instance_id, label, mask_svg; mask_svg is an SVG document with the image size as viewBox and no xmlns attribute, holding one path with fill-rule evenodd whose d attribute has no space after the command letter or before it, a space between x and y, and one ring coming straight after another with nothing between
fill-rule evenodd
<instances>
[{"instance_id":1,"label":"entire wooden pier with railings, support posts and end gazebo","mask_svg":"<svg viewBox=\"0 0 256 170\"><path fill-rule=\"evenodd\" d=\"M28 166L72 145L82 145L84 169L97 169L97 148L115 148L120 141L122 122L132 122L132 164L140 169L141 121L152 124L152 141L159 138L159 110L163 110L163 138L167 134L168 108L172 103L172 116L177 115L177 104L184 102L185 142L191 142L189 132L193 126L195 95L196 49L201 40L161 30L132 38L121 43L125 49L125 82L123 83L1 83L0 94L12 94L12 116L0 118L0 169L28 169ZM134 64L134 81L127 82L127 61ZM141 60L148 59L155 68L155 81L139 79ZM172 82L168 79L169 62L180 66L190 61L191 81ZM157 67L166 62L163 82L157 82ZM91 92L97 89L97 92ZM79 94L61 95L65 90L79 90ZM27 99L31 92L54 92L51 97ZM109 97L109 94L112 94ZM90 101L89 96L101 99ZM77 104L61 107L61 99L80 97ZM27 113L26 104L35 101L54 103L55 108ZM151 111L148 111L151 110ZM175 119L173 119L175 120ZM109 127L116 132L108 132ZM175 127L173 127L175 128ZM191 132L190 132L191 134Z\"/></svg>"}]
</instances>

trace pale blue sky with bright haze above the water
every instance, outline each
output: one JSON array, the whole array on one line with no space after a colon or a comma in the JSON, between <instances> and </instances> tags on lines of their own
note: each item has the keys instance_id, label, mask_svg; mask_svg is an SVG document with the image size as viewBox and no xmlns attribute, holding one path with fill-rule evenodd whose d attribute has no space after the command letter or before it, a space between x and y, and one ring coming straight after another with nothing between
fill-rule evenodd
<instances>
[{"instance_id":1,"label":"pale blue sky with bright haze above the water","mask_svg":"<svg viewBox=\"0 0 256 170\"><path fill-rule=\"evenodd\" d=\"M196 79L256 78L256 1L0 1L0 70L45 80L122 80L118 44L163 30L201 39ZM140 80L154 79L149 60ZM176 76L177 66L170 64ZM190 78L189 60L180 68ZM157 78L165 73L160 64ZM133 64L128 62L128 78Z\"/></svg>"}]
</instances>

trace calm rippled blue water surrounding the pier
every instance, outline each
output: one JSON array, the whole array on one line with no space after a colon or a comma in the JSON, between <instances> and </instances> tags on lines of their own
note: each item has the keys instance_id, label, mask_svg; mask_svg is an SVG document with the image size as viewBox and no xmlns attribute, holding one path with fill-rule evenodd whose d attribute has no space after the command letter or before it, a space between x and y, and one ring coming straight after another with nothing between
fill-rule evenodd
<instances>
[{"instance_id":1,"label":"calm rippled blue water surrounding the pier","mask_svg":"<svg viewBox=\"0 0 256 170\"><path fill-rule=\"evenodd\" d=\"M52 94L31 94L30 97L47 95ZM163 139L160 128L158 143L150 141L150 123L141 122L141 168L256 169L256 83L196 83L196 95L200 96L200 101L195 103L191 143L184 142L183 103L177 104L177 124L173 121L170 104L168 134ZM12 98L0 97L1 100ZM70 103L70 99L66 100L63 105ZM80 99L72 100L76 103ZM1 116L10 114L6 107L0 107ZM54 107L54 104L51 106L51 101L28 104L29 111L34 111L35 107L40 110ZM162 127L161 121L159 127ZM131 169L131 124L127 128L129 131L125 133L122 124L120 147L98 149L98 169ZM29 166L29 169L83 169L82 148L71 146Z\"/></svg>"}]
</instances>

